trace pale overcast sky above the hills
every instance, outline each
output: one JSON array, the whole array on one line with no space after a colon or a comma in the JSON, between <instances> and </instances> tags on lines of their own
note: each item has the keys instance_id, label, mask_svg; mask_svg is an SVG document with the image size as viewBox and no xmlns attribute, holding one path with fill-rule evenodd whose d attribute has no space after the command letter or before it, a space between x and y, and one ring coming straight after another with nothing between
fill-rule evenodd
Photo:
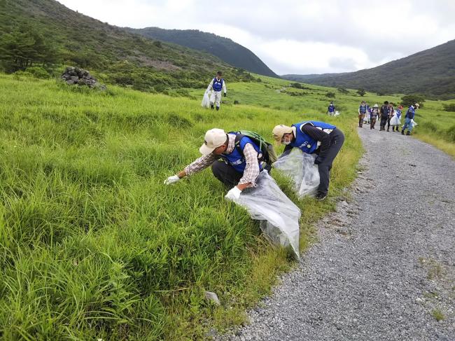
<instances>
[{"instance_id":1,"label":"pale overcast sky above the hills","mask_svg":"<svg viewBox=\"0 0 455 341\"><path fill-rule=\"evenodd\" d=\"M111 25L200 29L276 74L356 71L455 39L455 0L59 0Z\"/></svg>"}]
</instances>

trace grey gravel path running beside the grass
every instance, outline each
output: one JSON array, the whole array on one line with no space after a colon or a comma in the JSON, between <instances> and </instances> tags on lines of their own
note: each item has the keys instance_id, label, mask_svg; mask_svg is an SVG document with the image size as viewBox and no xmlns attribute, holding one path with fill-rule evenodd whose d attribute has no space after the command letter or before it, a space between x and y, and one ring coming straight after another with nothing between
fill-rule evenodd
<instances>
[{"instance_id":1,"label":"grey gravel path running beside the grass","mask_svg":"<svg viewBox=\"0 0 455 341\"><path fill-rule=\"evenodd\" d=\"M251 323L216 340L455 340L455 162L398 132L359 131L353 199L318 224Z\"/></svg>"}]
</instances>

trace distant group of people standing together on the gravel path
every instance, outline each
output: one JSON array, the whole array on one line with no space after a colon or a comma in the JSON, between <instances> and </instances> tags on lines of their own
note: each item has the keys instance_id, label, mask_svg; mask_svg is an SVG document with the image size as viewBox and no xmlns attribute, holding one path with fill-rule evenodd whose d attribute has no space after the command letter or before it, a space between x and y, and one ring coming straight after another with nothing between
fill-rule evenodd
<instances>
[{"instance_id":1,"label":"distant group of people standing together on the gravel path","mask_svg":"<svg viewBox=\"0 0 455 341\"><path fill-rule=\"evenodd\" d=\"M416 109L419 108L419 103L409 106L405 114L405 124L402 126L401 134L410 135L412 128L414 127L414 115ZM380 120L379 131L385 131L387 125L387 131L390 132L392 126L392 132L400 131L401 114L403 107L400 105L398 108L394 108L393 103L385 101L381 105L381 108L377 104L370 107L365 101L360 103L358 107L358 127L363 127L363 123L370 124L370 130L375 129L374 126L377 120Z\"/></svg>"}]
</instances>

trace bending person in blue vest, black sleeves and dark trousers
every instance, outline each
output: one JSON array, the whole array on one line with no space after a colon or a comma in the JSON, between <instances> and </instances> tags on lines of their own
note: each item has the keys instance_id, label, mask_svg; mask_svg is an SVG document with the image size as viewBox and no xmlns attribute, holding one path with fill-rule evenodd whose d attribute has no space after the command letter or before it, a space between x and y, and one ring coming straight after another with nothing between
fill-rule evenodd
<instances>
[{"instance_id":1,"label":"bending person in blue vest, black sleeves and dark trousers","mask_svg":"<svg viewBox=\"0 0 455 341\"><path fill-rule=\"evenodd\" d=\"M272 130L274 139L285 144L283 155L292 148L299 148L304 153L316 154L314 164L318 165L319 186L316 199L324 200L328 194L330 169L344 143L344 134L335 125L315 120L287 125L276 125Z\"/></svg>"}]
</instances>

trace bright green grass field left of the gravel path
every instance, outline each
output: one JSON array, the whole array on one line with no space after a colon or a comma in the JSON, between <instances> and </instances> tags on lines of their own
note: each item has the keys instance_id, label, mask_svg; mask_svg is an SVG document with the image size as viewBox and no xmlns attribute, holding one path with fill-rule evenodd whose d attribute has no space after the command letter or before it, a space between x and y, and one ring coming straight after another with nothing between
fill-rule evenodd
<instances>
[{"instance_id":1,"label":"bright green grass field left of the gravel path","mask_svg":"<svg viewBox=\"0 0 455 341\"><path fill-rule=\"evenodd\" d=\"M337 94L345 114L329 118L321 113L326 89L276 91L288 83L228 84L228 99L241 104L216 112L200 107L200 92L97 92L0 75L0 338L191 340L209 326L241 323L292 260L224 200L209 170L162 182L199 156L211 127L268 138L279 123L335 123L346 142L330 200L297 202L277 176L302 209L307 246L311 225L356 176L363 149L348 113L360 97ZM216 292L221 307L204 291Z\"/></svg>"}]
</instances>

